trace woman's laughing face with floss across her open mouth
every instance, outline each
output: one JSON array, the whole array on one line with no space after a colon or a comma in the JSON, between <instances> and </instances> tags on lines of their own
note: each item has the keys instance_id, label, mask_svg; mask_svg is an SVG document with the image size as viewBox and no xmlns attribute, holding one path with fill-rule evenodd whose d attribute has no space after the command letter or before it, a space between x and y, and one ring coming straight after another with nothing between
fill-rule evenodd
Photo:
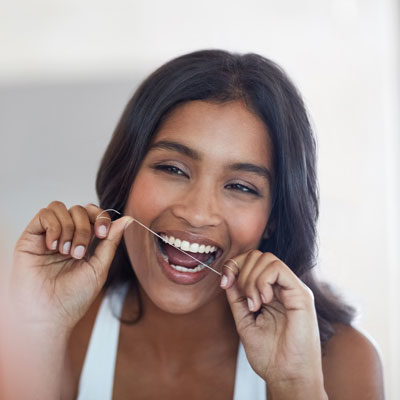
<instances>
[{"instance_id":1,"label":"woman's laughing face with floss across her open mouth","mask_svg":"<svg viewBox=\"0 0 400 400\"><path fill-rule=\"evenodd\" d=\"M257 248L271 211L272 145L241 101L191 101L161 125L133 182L128 254L147 296L171 313L219 298L224 261ZM198 266L199 265L199 266Z\"/></svg>"}]
</instances>

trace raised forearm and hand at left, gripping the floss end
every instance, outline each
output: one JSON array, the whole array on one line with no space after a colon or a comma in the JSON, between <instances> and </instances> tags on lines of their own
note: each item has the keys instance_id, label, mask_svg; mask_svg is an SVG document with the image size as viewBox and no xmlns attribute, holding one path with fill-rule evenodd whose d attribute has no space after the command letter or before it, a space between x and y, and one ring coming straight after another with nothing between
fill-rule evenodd
<instances>
[{"instance_id":1,"label":"raised forearm and hand at left, gripping the floss end","mask_svg":"<svg viewBox=\"0 0 400 400\"><path fill-rule=\"evenodd\" d=\"M97 220L101 212L95 205L67 210L63 203L52 202L18 240L3 342L6 357L0 365L7 400L61 398L70 332L100 292L131 222L128 217ZM102 240L84 258L93 233Z\"/></svg>"}]
</instances>

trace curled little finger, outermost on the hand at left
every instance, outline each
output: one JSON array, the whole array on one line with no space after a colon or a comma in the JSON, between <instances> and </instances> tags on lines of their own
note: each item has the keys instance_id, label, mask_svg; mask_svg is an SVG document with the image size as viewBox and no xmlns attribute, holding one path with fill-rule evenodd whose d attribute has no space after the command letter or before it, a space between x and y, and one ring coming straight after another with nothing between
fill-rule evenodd
<instances>
[{"instance_id":1,"label":"curled little finger, outermost on the hand at left","mask_svg":"<svg viewBox=\"0 0 400 400\"><path fill-rule=\"evenodd\" d=\"M32 235L43 235L45 233L46 247L49 250L56 250L61 225L53 211L42 208L28 224L26 232Z\"/></svg>"}]
</instances>

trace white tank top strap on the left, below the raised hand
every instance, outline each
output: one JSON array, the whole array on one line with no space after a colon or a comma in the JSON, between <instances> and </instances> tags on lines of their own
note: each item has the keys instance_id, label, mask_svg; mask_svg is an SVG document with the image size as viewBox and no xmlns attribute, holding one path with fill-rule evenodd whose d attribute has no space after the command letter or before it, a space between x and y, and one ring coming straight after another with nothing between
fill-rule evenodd
<instances>
[{"instance_id":1,"label":"white tank top strap on the left, below the raised hand","mask_svg":"<svg viewBox=\"0 0 400 400\"><path fill-rule=\"evenodd\" d=\"M100 305L79 380L78 400L112 399L119 317L128 288L129 284L124 284L108 291Z\"/></svg>"}]
</instances>

